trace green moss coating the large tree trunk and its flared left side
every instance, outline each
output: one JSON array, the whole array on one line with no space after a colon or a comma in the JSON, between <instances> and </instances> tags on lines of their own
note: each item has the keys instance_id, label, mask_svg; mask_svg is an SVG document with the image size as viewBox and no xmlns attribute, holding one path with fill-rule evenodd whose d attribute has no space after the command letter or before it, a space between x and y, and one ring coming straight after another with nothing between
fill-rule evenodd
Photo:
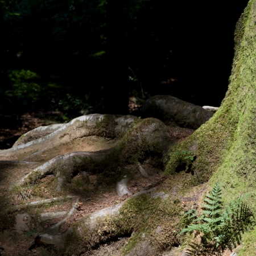
<instances>
[{"instance_id":1,"label":"green moss coating the large tree trunk and its flared left side","mask_svg":"<svg viewBox=\"0 0 256 256\"><path fill-rule=\"evenodd\" d=\"M218 112L207 123L202 125L184 142L170 149L165 159L167 174L174 173L176 168L180 166L179 158L174 153L189 150L195 145L197 158L193 162L192 169L200 174L202 181L208 181L209 177L220 169L225 169L226 172L229 168L233 168L236 169L236 172L240 170L241 175L243 173L242 168L245 168L242 167L245 166L245 159L250 159L251 168L254 166L252 161L255 159L255 152L250 141L253 142L252 127L254 127L256 121L253 117L255 115L255 101L253 100L254 92L249 89L254 84L254 76L251 73L248 55L250 61L255 59L256 44L251 43L249 45L246 42L255 32L255 27L249 31L246 25L250 23L250 26L254 26L254 23L252 24L249 20L249 17L250 19L253 17L253 14L250 13L254 10L252 9L252 3L253 1L249 2L243 14L243 19L238 22L236 34L239 39L236 39L236 42L240 43L237 43L236 46L235 58L237 59L234 59L229 91ZM242 29L246 31L241 32ZM245 72L245 69L249 70ZM243 70L242 73L241 70ZM242 162L244 163L242 164Z\"/></svg>"}]
</instances>

